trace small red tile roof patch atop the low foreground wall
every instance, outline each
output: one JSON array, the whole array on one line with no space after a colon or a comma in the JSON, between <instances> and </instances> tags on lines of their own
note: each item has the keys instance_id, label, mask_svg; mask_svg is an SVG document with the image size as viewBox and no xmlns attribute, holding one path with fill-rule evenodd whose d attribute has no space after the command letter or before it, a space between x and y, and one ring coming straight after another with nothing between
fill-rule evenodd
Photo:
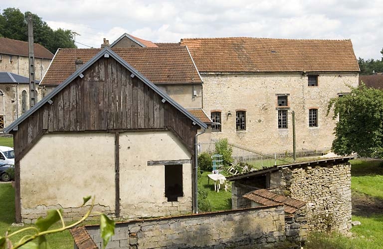
<instances>
[{"instance_id":1,"label":"small red tile roof patch atop the low foreground wall","mask_svg":"<svg viewBox=\"0 0 383 249\"><path fill-rule=\"evenodd\" d=\"M250 193L245 194L243 197L253 202L262 204L264 206L284 204L285 212L289 214L295 213L295 211L297 211L299 208L306 205L305 202L301 202L290 197L274 194L265 189L252 191Z\"/></svg>"}]
</instances>

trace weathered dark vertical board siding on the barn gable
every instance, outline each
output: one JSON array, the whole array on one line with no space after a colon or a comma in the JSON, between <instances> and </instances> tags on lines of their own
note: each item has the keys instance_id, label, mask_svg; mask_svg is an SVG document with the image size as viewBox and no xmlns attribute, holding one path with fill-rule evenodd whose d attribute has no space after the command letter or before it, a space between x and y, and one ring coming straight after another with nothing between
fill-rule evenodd
<instances>
[{"instance_id":1,"label":"weathered dark vertical board siding on the barn gable","mask_svg":"<svg viewBox=\"0 0 383 249\"><path fill-rule=\"evenodd\" d=\"M197 127L113 58L100 58L14 131L16 160L45 132L169 129L192 150Z\"/></svg>"}]
</instances>

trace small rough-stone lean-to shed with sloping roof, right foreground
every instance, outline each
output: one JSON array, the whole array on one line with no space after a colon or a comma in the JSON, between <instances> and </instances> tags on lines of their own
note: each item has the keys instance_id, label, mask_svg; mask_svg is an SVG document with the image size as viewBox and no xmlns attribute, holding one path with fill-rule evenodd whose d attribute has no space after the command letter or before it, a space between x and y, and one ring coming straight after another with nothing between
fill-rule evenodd
<instances>
[{"instance_id":1,"label":"small rough-stone lean-to shed with sloping roof, right foreground","mask_svg":"<svg viewBox=\"0 0 383 249\"><path fill-rule=\"evenodd\" d=\"M353 157L294 163L227 178L233 181L232 208L253 207L248 193L268 189L306 203L310 231L348 234L351 229L351 165Z\"/></svg>"}]
</instances>

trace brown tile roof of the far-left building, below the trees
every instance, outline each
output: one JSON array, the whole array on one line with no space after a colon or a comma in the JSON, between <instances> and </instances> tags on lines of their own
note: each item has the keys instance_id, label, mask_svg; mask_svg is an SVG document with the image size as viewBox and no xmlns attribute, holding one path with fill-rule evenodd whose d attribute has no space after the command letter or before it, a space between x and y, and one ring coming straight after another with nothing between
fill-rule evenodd
<instances>
[{"instance_id":1,"label":"brown tile roof of the far-left building, below the trees","mask_svg":"<svg viewBox=\"0 0 383 249\"><path fill-rule=\"evenodd\" d=\"M38 43L33 44L33 50L35 58L53 58L53 54L48 49L46 49ZM0 37L0 53L28 57L28 42Z\"/></svg>"}]
</instances>

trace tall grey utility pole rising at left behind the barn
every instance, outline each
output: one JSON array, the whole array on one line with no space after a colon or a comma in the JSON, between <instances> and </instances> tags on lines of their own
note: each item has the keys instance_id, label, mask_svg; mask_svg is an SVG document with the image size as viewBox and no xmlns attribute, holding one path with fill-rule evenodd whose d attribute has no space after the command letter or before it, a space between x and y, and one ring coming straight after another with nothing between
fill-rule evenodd
<instances>
[{"instance_id":1,"label":"tall grey utility pole rising at left behind the barn","mask_svg":"<svg viewBox=\"0 0 383 249\"><path fill-rule=\"evenodd\" d=\"M33 20L28 15L28 54L29 54L29 108L36 104L36 84L34 82Z\"/></svg>"}]
</instances>

